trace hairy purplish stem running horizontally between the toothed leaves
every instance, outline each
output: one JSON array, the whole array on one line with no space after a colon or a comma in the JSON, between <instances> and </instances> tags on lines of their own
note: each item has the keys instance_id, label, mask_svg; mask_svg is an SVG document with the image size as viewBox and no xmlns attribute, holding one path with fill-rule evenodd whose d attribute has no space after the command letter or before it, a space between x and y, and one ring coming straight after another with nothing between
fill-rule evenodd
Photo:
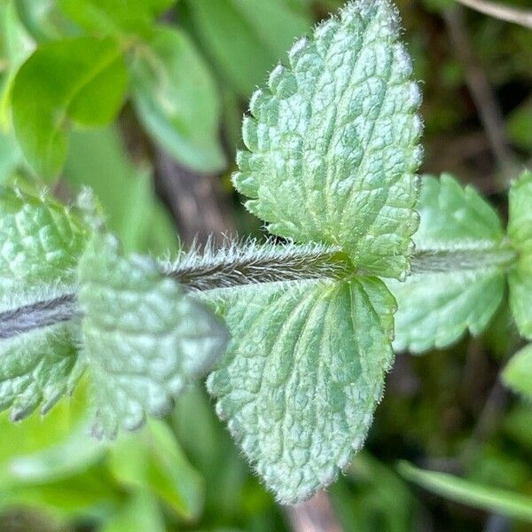
<instances>
[{"instance_id":1,"label":"hairy purplish stem running horizontally between the toothed leaves","mask_svg":"<svg viewBox=\"0 0 532 532\"><path fill-rule=\"evenodd\" d=\"M509 268L516 260L509 247L460 250L418 250L412 257L411 272L436 273L453 270ZM232 242L218 250L207 246L185 254L175 263L161 266L162 272L175 278L192 292L231 288L250 284L341 279L358 274L348 256L336 246L322 244L275 245L255 241ZM74 293L35 301L0 313L0 339L12 338L33 329L81 317Z\"/></svg>"}]
</instances>

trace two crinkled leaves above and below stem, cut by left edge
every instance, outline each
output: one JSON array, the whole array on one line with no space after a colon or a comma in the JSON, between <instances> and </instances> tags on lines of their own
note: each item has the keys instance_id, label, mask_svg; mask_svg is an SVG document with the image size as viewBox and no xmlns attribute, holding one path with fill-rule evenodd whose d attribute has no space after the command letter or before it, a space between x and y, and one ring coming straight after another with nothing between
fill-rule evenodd
<instances>
[{"instance_id":1,"label":"two crinkled leaves above and below stem, cut by left edge","mask_svg":"<svg viewBox=\"0 0 532 532\"><path fill-rule=\"evenodd\" d=\"M60 294L74 282L85 230L51 199L0 189L0 312ZM16 324L13 327L17 327ZM0 340L0 409L21 419L48 411L69 392L84 363L74 347L79 324L52 325Z\"/></svg>"}]
</instances>

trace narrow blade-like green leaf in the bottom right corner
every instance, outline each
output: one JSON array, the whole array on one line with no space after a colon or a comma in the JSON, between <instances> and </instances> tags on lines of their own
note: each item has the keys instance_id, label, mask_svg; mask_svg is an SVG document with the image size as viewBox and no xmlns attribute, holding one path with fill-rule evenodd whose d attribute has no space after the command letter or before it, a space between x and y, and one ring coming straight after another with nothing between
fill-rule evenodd
<instances>
[{"instance_id":1,"label":"narrow blade-like green leaf in the bottom right corner","mask_svg":"<svg viewBox=\"0 0 532 532\"><path fill-rule=\"evenodd\" d=\"M532 522L532 497L465 481L447 473L424 471L408 462L399 464L399 472L409 481L452 501Z\"/></svg>"}]
</instances>

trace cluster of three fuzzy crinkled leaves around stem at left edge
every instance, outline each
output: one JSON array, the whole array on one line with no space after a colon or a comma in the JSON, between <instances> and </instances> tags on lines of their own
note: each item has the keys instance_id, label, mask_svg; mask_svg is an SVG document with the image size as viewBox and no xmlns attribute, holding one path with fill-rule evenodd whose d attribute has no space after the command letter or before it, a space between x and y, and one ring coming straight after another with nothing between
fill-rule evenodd
<instances>
[{"instance_id":1,"label":"cluster of three fuzzy crinkled leaves around stem at left edge","mask_svg":"<svg viewBox=\"0 0 532 532\"><path fill-rule=\"evenodd\" d=\"M12 418L50 409L88 365L94 432L113 437L166 413L223 351L223 326L152 260L123 257L116 239L49 199L3 189L0 212L0 406ZM42 324L42 302L78 285L82 319L67 307L71 319Z\"/></svg>"}]
</instances>

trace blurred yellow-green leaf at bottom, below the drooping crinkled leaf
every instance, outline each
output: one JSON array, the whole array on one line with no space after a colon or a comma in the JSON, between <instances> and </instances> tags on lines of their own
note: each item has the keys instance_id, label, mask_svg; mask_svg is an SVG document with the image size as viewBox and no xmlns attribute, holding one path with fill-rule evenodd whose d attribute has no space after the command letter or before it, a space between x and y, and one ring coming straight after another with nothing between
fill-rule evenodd
<instances>
[{"instance_id":1,"label":"blurred yellow-green leaf at bottom, below the drooping crinkled leaf","mask_svg":"<svg viewBox=\"0 0 532 532\"><path fill-rule=\"evenodd\" d=\"M150 489L178 516L186 520L200 516L201 477L161 421L151 420L141 433L121 436L112 450L110 468L121 485Z\"/></svg>"}]
</instances>

